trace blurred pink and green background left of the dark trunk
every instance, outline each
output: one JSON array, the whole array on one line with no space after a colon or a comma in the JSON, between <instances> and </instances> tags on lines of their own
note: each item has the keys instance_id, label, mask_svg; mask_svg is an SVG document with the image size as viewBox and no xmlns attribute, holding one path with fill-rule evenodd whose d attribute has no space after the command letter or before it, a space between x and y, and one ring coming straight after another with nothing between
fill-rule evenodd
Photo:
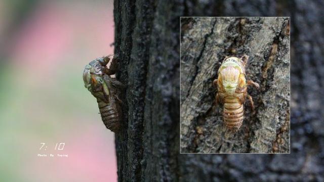
<instances>
[{"instance_id":1,"label":"blurred pink and green background left of the dark trunk","mask_svg":"<svg viewBox=\"0 0 324 182\"><path fill-rule=\"evenodd\" d=\"M0 181L117 179L114 135L82 79L113 38L112 1L0 1Z\"/></svg>"}]
</instances>

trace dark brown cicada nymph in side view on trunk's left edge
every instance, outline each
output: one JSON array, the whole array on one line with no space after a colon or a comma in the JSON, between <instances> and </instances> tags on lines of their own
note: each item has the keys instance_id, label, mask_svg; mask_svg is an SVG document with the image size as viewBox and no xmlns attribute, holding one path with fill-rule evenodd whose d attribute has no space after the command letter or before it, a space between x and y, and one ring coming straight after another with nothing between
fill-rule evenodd
<instances>
[{"instance_id":1,"label":"dark brown cicada nymph in side view on trunk's left edge","mask_svg":"<svg viewBox=\"0 0 324 182\"><path fill-rule=\"evenodd\" d=\"M124 85L110 75L117 71L116 59L112 58L109 68L106 67L110 56L97 58L90 62L83 73L85 87L97 99L101 119L105 126L113 132L119 129L121 119L120 100Z\"/></svg>"}]
</instances>

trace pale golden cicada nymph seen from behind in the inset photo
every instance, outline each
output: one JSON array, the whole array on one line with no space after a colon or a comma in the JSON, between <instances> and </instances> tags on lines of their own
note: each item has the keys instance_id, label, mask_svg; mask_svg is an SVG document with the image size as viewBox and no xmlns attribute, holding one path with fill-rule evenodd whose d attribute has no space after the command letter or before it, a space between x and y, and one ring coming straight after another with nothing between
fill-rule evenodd
<instances>
[{"instance_id":1,"label":"pale golden cicada nymph seen from behind in the inset photo","mask_svg":"<svg viewBox=\"0 0 324 182\"><path fill-rule=\"evenodd\" d=\"M248 59L247 55L241 58L226 57L218 69L218 78L213 82L218 89L216 102L223 104L224 123L234 131L237 131L242 125L244 103L247 97L254 111L253 99L247 92L247 85L259 88L258 83L252 80L246 81L245 67Z\"/></svg>"}]
</instances>

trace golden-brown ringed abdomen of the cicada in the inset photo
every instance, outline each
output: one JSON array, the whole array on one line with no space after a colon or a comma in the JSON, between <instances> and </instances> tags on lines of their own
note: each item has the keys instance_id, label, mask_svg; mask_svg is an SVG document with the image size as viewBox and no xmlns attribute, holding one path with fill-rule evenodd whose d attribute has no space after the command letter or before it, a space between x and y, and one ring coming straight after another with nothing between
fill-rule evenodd
<instances>
[{"instance_id":1,"label":"golden-brown ringed abdomen of the cicada in the inset photo","mask_svg":"<svg viewBox=\"0 0 324 182\"><path fill-rule=\"evenodd\" d=\"M229 129L238 130L240 128L244 119L244 109L238 98L227 97L224 99L223 118Z\"/></svg>"}]
</instances>

